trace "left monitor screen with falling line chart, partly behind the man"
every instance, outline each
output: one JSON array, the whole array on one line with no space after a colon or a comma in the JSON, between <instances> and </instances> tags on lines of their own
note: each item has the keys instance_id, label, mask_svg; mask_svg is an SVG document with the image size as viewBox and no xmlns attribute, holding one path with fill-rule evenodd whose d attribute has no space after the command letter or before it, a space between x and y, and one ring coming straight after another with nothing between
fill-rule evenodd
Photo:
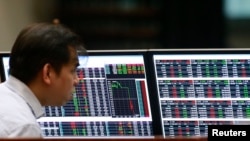
<instances>
[{"instance_id":1,"label":"left monitor screen with falling line chart, partly behind the man","mask_svg":"<svg viewBox=\"0 0 250 141\"><path fill-rule=\"evenodd\" d=\"M73 99L44 107L45 137L153 137L142 55L79 58Z\"/></svg>"}]
</instances>

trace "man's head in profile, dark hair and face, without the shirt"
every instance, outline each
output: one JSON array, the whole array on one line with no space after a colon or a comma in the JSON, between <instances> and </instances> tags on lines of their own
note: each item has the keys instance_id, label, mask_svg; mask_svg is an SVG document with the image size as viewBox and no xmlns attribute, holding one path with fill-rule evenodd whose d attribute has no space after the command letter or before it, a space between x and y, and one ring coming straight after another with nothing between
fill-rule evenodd
<instances>
[{"instance_id":1,"label":"man's head in profile, dark hair and face, without the shirt","mask_svg":"<svg viewBox=\"0 0 250 141\"><path fill-rule=\"evenodd\" d=\"M39 85L45 86L43 88L46 88L52 95L57 93L59 87L71 87L66 86L68 83L66 81L74 81L72 85L78 81L75 71L79 64L79 52L86 55L79 36L68 28L60 24L32 24L20 32L14 43L9 62L10 75L34 89L37 89L34 82L39 82ZM69 71L71 71L71 76L67 76ZM42 93L42 90L40 91ZM68 90L65 88L65 91ZM34 93L43 105L59 105L60 103L59 97L56 102L53 98L49 100L50 96L42 97L42 94L37 94L39 92ZM53 95L59 96L59 94Z\"/></svg>"}]
</instances>

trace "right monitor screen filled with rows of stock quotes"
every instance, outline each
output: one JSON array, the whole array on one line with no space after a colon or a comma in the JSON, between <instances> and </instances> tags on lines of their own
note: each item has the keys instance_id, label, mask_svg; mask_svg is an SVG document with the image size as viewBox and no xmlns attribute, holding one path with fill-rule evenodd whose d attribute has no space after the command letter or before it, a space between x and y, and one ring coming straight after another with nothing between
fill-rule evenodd
<instances>
[{"instance_id":1,"label":"right monitor screen filled with rows of stock quotes","mask_svg":"<svg viewBox=\"0 0 250 141\"><path fill-rule=\"evenodd\" d=\"M164 137L250 124L250 55L155 54L153 61Z\"/></svg>"}]
</instances>

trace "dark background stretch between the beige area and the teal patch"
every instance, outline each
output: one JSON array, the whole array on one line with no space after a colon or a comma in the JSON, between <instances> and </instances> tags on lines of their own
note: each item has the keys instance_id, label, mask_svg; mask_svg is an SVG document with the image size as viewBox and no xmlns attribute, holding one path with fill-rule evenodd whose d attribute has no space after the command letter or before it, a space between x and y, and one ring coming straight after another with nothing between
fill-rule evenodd
<instances>
[{"instance_id":1,"label":"dark background stretch between the beige area and the teal patch","mask_svg":"<svg viewBox=\"0 0 250 141\"><path fill-rule=\"evenodd\" d=\"M222 0L60 0L87 49L225 48Z\"/></svg>"}]
</instances>

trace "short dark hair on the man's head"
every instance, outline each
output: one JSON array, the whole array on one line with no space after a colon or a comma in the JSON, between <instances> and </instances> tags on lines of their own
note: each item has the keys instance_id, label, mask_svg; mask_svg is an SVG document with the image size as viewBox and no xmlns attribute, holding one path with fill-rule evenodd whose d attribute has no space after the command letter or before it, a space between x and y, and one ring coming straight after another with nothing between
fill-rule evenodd
<instances>
[{"instance_id":1,"label":"short dark hair on the man's head","mask_svg":"<svg viewBox=\"0 0 250 141\"><path fill-rule=\"evenodd\" d=\"M70 61L69 48L86 53L78 35L52 23L35 23L18 35L10 54L10 74L28 84L46 63L57 73Z\"/></svg>"}]
</instances>

